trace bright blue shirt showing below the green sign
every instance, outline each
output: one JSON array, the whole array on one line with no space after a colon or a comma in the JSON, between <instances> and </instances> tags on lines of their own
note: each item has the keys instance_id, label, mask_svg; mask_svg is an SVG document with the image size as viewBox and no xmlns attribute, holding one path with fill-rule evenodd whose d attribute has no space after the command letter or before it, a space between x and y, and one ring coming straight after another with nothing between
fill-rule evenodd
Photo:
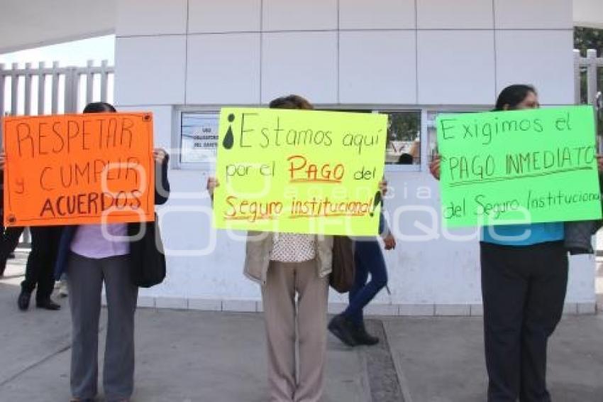
<instances>
[{"instance_id":1,"label":"bright blue shirt showing below the green sign","mask_svg":"<svg viewBox=\"0 0 603 402\"><path fill-rule=\"evenodd\" d=\"M501 246L531 246L565 237L563 222L505 224L482 228L482 241Z\"/></svg>"}]
</instances>

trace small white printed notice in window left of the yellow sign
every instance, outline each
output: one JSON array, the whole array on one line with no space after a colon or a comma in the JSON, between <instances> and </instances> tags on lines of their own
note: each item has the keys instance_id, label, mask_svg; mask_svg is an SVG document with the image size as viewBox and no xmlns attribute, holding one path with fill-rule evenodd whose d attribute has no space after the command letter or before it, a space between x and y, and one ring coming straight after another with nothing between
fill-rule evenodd
<instances>
[{"instance_id":1,"label":"small white printed notice in window left of the yellow sign","mask_svg":"<svg viewBox=\"0 0 603 402\"><path fill-rule=\"evenodd\" d=\"M180 162L214 163L218 150L218 114L182 113Z\"/></svg>"}]
</instances>

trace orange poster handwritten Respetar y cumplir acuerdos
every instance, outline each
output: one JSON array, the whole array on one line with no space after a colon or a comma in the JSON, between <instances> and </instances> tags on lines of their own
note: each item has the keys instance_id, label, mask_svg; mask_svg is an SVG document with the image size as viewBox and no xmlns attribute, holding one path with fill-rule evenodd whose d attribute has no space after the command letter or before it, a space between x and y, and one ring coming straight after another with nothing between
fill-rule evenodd
<instances>
[{"instance_id":1,"label":"orange poster handwritten Respetar y cumplir acuerdos","mask_svg":"<svg viewBox=\"0 0 603 402\"><path fill-rule=\"evenodd\" d=\"M153 115L4 119L4 224L155 219Z\"/></svg>"}]
</instances>

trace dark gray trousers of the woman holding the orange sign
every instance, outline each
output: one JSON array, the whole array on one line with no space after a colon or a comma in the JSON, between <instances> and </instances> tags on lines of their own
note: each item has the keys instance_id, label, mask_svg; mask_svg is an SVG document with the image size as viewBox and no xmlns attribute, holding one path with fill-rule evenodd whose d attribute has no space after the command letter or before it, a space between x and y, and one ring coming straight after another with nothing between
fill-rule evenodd
<instances>
[{"instance_id":1,"label":"dark gray trousers of the woman holding the orange sign","mask_svg":"<svg viewBox=\"0 0 603 402\"><path fill-rule=\"evenodd\" d=\"M130 398L134 388L134 312L138 287L127 256L88 259L71 254L67 286L72 317L71 391L86 399L97 393L99 317L105 283L108 324L103 371L106 401Z\"/></svg>"}]
</instances>

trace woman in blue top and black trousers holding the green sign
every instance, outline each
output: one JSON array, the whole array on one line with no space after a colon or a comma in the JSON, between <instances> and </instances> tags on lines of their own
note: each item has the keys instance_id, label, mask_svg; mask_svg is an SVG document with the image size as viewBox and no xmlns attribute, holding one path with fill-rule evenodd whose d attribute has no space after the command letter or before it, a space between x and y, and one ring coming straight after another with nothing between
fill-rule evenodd
<instances>
[{"instance_id":1,"label":"woman in blue top and black trousers holding the green sign","mask_svg":"<svg viewBox=\"0 0 603 402\"><path fill-rule=\"evenodd\" d=\"M539 106L534 87L511 85L499 94L495 111ZM430 165L436 179L440 161L438 157ZM579 225L564 226L564 222L482 228L487 401L551 401L546 388L547 343L563 313L568 250L573 254L576 246L586 250L582 252L590 249L592 232L581 233L585 240L581 245L576 242L576 228L584 232Z\"/></svg>"}]
</instances>

